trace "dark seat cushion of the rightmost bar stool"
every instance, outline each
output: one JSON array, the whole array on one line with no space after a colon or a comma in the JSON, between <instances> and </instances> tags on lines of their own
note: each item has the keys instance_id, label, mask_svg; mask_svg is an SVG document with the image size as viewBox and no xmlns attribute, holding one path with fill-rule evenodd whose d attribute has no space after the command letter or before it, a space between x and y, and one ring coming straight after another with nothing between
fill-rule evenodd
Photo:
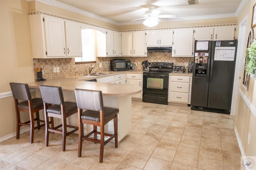
<instances>
[{"instance_id":1,"label":"dark seat cushion of the rightmost bar stool","mask_svg":"<svg viewBox=\"0 0 256 170\"><path fill-rule=\"evenodd\" d=\"M104 119L105 120L108 119L108 117L115 115L119 111L118 109L109 108L109 107L103 107L103 108L104 108ZM82 113L81 119L100 122L100 112L86 110Z\"/></svg>"}]
</instances>

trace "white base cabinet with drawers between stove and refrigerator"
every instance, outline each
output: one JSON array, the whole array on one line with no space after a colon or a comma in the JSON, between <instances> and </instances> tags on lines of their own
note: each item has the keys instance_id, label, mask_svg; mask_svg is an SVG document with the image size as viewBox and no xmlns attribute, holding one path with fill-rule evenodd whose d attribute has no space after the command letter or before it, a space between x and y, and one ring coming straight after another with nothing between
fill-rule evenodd
<instances>
[{"instance_id":1,"label":"white base cabinet with drawers between stove and refrigerator","mask_svg":"<svg viewBox=\"0 0 256 170\"><path fill-rule=\"evenodd\" d=\"M168 102L190 104L191 77L169 76Z\"/></svg>"}]
</instances>

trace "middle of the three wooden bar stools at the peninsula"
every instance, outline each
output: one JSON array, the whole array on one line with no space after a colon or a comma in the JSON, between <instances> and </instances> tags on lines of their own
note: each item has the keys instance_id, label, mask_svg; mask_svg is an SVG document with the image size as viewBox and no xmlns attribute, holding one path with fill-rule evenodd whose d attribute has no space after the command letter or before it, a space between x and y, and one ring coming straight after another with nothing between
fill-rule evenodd
<instances>
[{"instance_id":1,"label":"middle of the three wooden bar stools at the peninsula","mask_svg":"<svg viewBox=\"0 0 256 170\"><path fill-rule=\"evenodd\" d=\"M77 106L74 102L64 101L62 88L55 86L39 86L42 99L44 102L44 117L46 120L45 126L45 146L49 144L49 132L62 134L62 151L66 149L66 136L76 132L78 127L67 125L66 119L77 113ZM48 117L61 119L62 124L50 128ZM62 127L62 130L58 129ZM67 132L67 127L74 128Z\"/></svg>"}]
</instances>

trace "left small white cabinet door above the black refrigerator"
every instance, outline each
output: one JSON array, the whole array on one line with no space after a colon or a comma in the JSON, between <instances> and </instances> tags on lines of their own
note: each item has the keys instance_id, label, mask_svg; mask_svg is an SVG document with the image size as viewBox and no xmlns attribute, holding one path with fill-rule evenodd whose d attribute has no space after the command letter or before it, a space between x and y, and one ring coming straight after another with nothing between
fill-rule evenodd
<instances>
[{"instance_id":1,"label":"left small white cabinet door above the black refrigerator","mask_svg":"<svg viewBox=\"0 0 256 170\"><path fill-rule=\"evenodd\" d=\"M212 41L213 28L196 28L194 36L194 39L198 41Z\"/></svg>"}]
</instances>

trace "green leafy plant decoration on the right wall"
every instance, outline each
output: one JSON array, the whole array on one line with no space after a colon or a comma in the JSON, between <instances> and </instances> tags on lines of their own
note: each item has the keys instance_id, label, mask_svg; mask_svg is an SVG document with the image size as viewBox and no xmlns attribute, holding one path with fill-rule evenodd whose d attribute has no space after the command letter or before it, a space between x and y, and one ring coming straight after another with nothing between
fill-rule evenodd
<instances>
[{"instance_id":1,"label":"green leafy plant decoration on the right wall","mask_svg":"<svg viewBox=\"0 0 256 170\"><path fill-rule=\"evenodd\" d=\"M248 74L252 75L256 79L256 40L249 48L246 49L246 66L245 70Z\"/></svg>"}]
</instances>

